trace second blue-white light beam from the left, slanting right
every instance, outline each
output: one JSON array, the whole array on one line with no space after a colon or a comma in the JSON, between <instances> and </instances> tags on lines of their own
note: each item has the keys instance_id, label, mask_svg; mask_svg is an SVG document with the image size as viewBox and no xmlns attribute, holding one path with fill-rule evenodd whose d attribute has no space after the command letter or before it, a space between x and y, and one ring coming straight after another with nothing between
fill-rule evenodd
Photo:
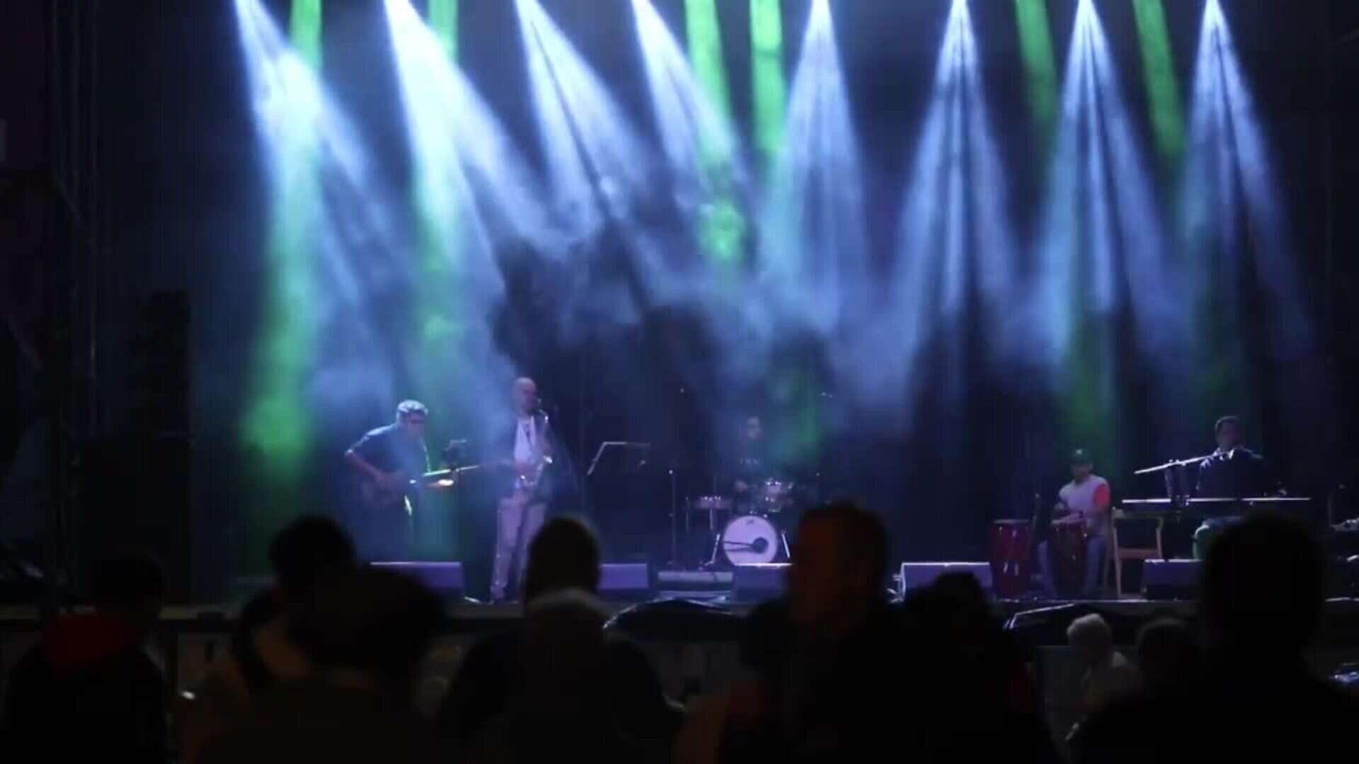
<instances>
[{"instance_id":1,"label":"second blue-white light beam from the left, slanting right","mask_svg":"<svg viewBox=\"0 0 1359 764\"><path fill-rule=\"evenodd\" d=\"M491 332L504 299L496 262L500 241L526 239L553 251L537 184L504 128L447 56L443 31L425 24L409 0L385 0L412 150L419 220L413 273L414 328L408 367L421 396L450 404L442 417L481 434L488 400L514 372Z\"/></svg>"}]
</instances>

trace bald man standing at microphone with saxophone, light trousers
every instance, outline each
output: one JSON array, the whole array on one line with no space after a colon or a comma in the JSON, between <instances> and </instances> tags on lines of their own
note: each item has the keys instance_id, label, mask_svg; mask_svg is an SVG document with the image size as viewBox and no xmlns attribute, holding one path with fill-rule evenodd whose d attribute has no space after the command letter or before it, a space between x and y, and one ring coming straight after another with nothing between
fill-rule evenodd
<instances>
[{"instance_id":1,"label":"bald man standing at microphone with saxophone, light trousers","mask_svg":"<svg viewBox=\"0 0 1359 764\"><path fill-rule=\"evenodd\" d=\"M496 555L491 568L493 602L507 600L511 566L516 580L523 580L529 542L538 534L548 511L544 472L552 464L552 428L538 401L538 385L527 377L515 379L512 398L512 450L510 458L500 462L508 480L496 508Z\"/></svg>"}]
</instances>

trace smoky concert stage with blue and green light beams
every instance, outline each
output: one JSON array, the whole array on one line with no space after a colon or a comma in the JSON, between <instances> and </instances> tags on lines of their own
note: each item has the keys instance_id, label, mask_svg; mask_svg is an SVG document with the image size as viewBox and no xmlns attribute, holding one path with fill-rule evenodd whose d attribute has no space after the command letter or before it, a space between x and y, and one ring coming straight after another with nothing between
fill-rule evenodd
<instances>
[{"instance_id":1,"label":"smoky concert stage with blue and green light beams","mask_svg":"<svg viewBox=\"0 0 1359 764\"><path fill-rule=\"evenodd\" d=\"M61 41L4 111L0 185L43 235L0 230L27 285L0 295L0 541L75 601L101 556L155 555L193 604L163 621L177 687L304 514L366 559L462 560L455 644L515 619L463 595L506 498L477 466L522 419L658 644L726 650L781 578L665 563L787 559L829 499L1021 589L1072 466L1140 515L1114 559L1193 553L1212 454L1260 462L1218 496L1359 514L1354 3L58 5L10 46ZM402 420L414 469L347 457ZM459 466L405 518L366 503ZM1193 614L1190 567L1162 572L1110 602L998 574L996 613L1060 648L1095 608L1128 643Z\"/></svg>"}]
</instances>

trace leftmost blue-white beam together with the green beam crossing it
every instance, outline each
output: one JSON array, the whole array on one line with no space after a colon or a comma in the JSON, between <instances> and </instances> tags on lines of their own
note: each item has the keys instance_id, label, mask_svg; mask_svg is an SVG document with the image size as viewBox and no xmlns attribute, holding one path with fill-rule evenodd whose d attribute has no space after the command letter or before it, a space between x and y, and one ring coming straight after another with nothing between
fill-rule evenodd
<instances>
[{"instance_id":1,"label":"leftmost blue-white beam together with the green beam crossing it","mask_svg":"<svg viewBox=\"0 0 1359 764\"><path fill-rule=\"evenodd\" d=\"M281 503L300 489L318 412L390 405L394 372L366 314L393 284L400 245L390 198L319 72L319 3L294 5L300 48L260 0L235 0L272 196L265 300L241 438ZM374 257L379 253L379 257ZM336 343L336 334L342 341Z\"/></svg>"}]
</instances>

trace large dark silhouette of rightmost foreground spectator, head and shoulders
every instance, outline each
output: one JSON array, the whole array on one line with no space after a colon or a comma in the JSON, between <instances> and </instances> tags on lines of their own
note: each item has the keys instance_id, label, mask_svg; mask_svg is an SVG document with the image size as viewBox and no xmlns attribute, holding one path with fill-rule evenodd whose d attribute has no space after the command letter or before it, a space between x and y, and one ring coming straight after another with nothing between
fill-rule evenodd
<instances>
[{"instance_id":1,"label":"large dark silhouette of rightmost foreground spectator, head and shoulders","mask_svg":"<svg viewBox=\"0 0 1359 764\"><path fill-rule=\"evenodd\" d=\"M1318 759L1351 746L1359 704L1306 665L1324 604L1324 557L1287 518L1223 532L1204 566L1203 669L1182 633L1143 633L1148 687L1093 718L1072 740L1078 761ZM1155 640L1177 644L1162 653ZM1170 655L1169 658L1166 655ZM1188 666L1167 674L1166 659Z\"/></svg>"}]
</instances>

